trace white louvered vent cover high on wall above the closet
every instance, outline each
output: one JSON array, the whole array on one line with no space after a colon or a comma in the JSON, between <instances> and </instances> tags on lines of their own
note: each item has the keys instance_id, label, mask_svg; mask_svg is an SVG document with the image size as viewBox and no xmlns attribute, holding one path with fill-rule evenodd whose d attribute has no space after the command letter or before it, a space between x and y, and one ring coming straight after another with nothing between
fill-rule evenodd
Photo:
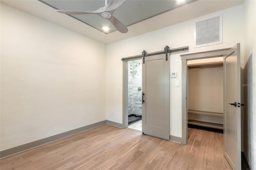
<instances>
[{"instance_id":1,"label":"white louvered vent cover high on wall above the closet","mask_svg":"<svg viewBox=\"0 0 256 170\"><path fill-rule=\"evenodd\" d=\"M222 17L216 16L195 23L195 47L222 43Z\"/></svg>"}]
</instances>

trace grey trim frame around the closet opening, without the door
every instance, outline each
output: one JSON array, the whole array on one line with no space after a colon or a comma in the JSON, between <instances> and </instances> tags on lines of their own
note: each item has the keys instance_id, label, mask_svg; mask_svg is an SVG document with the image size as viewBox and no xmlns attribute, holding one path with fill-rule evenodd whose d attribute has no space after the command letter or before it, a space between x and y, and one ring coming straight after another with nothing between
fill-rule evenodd
<instances>
[{"instance_id":1,"label":"grey trim frame around the closet opening, without the door","mask_svg":"<svg viewBox=\"0 0 256 170\"><path fill-rule=\"evenodd\" d=\"M187 111L187 61L215 57L226 57L230 48L203 51L180 55L182 60L182 144L188 143L188 111Z\"/></svg>"}]
</instances>

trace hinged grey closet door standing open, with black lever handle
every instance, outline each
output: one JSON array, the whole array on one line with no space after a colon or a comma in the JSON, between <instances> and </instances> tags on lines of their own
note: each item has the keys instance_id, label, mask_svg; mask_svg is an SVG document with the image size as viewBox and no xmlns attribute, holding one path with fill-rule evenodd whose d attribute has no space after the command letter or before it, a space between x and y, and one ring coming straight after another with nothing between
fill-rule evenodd
<instances>
[{"instance_id":1,"label":"hinged grey closet door standing open, with black lever handle","mask_svg":"<svg viewBox=\"0 0 256 170\"><path fill-rule=\"evenodd\" d=\"M233 170L241 169L240 43L224 58L224 155Z\"/></svg>"}]
</instances>

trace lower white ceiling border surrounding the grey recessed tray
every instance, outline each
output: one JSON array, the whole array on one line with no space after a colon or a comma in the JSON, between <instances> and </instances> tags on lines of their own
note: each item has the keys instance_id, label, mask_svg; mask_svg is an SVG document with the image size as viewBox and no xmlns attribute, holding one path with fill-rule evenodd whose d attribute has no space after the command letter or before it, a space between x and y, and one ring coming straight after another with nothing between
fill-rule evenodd
<instances>
[{"instance_id":1,"label":"lower white ceiling border surrounding the grey recessed tray","mask_svg":"<svg viewBox=\"0 0 256 170\"><path fill-rule=\"evenodd\" d=\"M125 34L118 31L105 34L68 15L56 12L54 8L51 8L38 0L1 0L1 2L82 34L86 37L108 44L144 34L146 32L151 32L153 30L158 30L160 28L210 14L212 12L224 10L232 6L242 4L243 0L196 0L158 16L154 16L142 22L128 26L129 31Z\"/></svg>"}]
</instances>

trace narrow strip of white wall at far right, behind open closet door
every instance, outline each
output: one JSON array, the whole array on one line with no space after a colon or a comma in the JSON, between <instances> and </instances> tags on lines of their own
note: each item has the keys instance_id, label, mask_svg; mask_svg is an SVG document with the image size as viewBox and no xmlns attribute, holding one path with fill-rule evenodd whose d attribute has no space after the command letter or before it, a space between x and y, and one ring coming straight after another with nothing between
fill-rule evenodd
<instances>
[{"instance_id":1,"label":"narrow strip of white wall at far right, behind open closet door","mask_svg":"<svg viewBox=\"0 0 256 170\"><path fill-rule=\"evenodd\" d=\"M256 169L256 1L244 1L244 153Z\"/></svg>"}]
</instances>

